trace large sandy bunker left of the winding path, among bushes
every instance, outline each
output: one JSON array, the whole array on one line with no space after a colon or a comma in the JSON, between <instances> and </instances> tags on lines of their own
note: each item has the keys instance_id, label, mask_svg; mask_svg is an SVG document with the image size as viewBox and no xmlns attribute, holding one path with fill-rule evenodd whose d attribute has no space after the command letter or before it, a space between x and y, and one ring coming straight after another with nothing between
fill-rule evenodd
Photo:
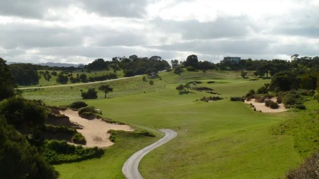
<instances>
[{"instance_id":1,"label":"large sandy bunker left of the winding path, among bushes","mask_svg":"<svg viewBox=\"0 0 319 179\"><path fill-rule=\"evenodd\" d=\"M129 125L111 124L103 121L102 119L85 119L79 116L77 111L67 109L65 111L60 110L61 114L64 114L70 118L70 121L76 122L83 126L83 129L77 129L86 139L86 145L83 147L109 147L114 143L109 140L110 134L107 133L109 129L133 131L134 129Z\"/></svg>"}]
</instances>

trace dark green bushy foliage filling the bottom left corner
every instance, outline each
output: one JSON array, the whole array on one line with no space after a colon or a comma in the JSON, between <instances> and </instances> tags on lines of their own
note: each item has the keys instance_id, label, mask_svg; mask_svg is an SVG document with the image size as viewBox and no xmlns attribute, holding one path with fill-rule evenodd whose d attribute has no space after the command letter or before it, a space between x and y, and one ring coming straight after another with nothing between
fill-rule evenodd
<instances>
[{"instance_id":1,"label":"dark green bushy foliage filling the bottom left corner","mask_svg":"<svg viewBox=\"0 0 319 179\"><path fill-rule=\"evenodd\" d=\"M25 136L0 116L0 176L3 179L56 179L58 173Z\"/></svg>"}]
</instances>

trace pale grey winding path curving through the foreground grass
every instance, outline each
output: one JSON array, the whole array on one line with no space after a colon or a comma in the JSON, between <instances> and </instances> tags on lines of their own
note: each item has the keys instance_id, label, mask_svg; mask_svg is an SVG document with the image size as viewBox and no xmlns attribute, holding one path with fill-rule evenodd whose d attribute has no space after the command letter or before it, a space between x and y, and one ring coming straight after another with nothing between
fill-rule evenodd
<instances>
[{"instance_id":1,"label":"pale grey winding path curving through the foreground grass","mask_svg":"<svg viewBox=\"0 0 319 179\"><path fill-rule=\"evenodd\" d=\"M153 149L160 147L161 145L165 144L166 142L172 140L176 137L177 133L170 129L160 129L160 131L165 133L165 136L158 140L157 142L139 150L135 154L133 154L125 163L122 168L122 172L127 179L143 179L139 172L139 163L142 158L151 152Z\"/></svg>"}]
</instances>

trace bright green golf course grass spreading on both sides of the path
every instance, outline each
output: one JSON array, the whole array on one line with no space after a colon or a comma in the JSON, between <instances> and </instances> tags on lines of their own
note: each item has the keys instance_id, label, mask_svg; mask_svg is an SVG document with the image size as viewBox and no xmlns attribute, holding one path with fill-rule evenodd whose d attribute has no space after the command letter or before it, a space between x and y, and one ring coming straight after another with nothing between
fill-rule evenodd
<instances>
[{"instance_id":1,"label":"bright green golf course grass spreading on both sides of the path","mask_svg":"<svg viewBox=\"0 0 319 179\"><path fill-rule=\"evenodd\" d=\"M100 91L98 99L85 102L102 109L104 117L115 121L141 128L170 128L177 131L175 139L142 160L140 171L145 178L269 179L283 176L288 168L301 163L304 155L296 150L296 140L306 140L289 133L273 135L271 129L286 120L302 118L311 111L255 112L249 104L232 102L229 98L245 95L249 89L258 89L270 83L270 80L250 81L216 73L228 75L227 72L216 71L185 71L180 76L172 72L160 73L162 80L152 79L155 82L153 86L143 82L142 76L109 81L103 83L114 88L108 94L109 98L104 99ZM233 72L229 73L234 75ZM189 81L201 81L202 84L197 86L212 88L225 99L196 101L214 94L192 90L187 94L179 94L175 87ZM215 83L207 84L209 81ZM99 85L26 90L23 95L30 99L42 98L51 105L69 104L80 100L80 89L97 89ZM318 102L314 100L306 102L310 110L315 109L316 105ZM309 134L304 133L303 128L296 130ZM124 178L121 168L126 159L155 141L155 138L135 139L128 135L117 137L119 141L107 148L106 155L101 159L55 166L61 178ZM309 145L314 151L309 143L302 144Z\"/></svg>"}]
</instances>

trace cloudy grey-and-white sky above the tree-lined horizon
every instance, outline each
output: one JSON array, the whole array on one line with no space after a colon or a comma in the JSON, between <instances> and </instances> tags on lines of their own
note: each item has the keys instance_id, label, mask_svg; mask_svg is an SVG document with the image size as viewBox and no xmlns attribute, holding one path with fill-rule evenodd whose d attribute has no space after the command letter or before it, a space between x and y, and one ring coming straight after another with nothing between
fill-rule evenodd
<instances>
[{"instance_id":1,"label":"cloudy grey-and-white sky above the tree-lined horizon","mask_svg":"<svg viewBox=\"0 0 319 179\"><path fill-rule=\"evenodd\" d=\"M0 57L88 64L160 56L319 56L319 0L0 0Z\"/></svg>"}]
</instances>

